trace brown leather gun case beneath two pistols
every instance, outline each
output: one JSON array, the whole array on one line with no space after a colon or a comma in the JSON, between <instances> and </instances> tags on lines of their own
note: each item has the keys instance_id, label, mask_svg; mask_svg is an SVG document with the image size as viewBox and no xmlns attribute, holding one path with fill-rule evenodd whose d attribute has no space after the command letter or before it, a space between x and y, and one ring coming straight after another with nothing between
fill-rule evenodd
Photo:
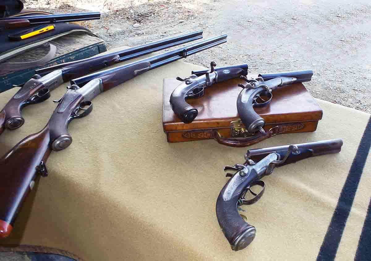
<instances>
[{"instance_id":1,"label":"brown leather gun case beneath two pistols","mask_svg":"<svg viewBox=\"0 0 371 261\"><path fill-rule=\"evenodd\" d=\"M257 77L257 75L248 75ZM237 113L237 96L241 92L239 83L246 84L241 79L232 79L226 82L214 84L205 89L205 95L197 99L187 99L187 103L198 110L196 119L185 124L178 119L171 109L169 102L173 90L181 82L175 78L164 79L163 87L163 114L162 123L164 132L167 133L169 142L205 139L213 137L187 138L184 133L197 130L218 129L223 132L224 138L233 128L231 122L240 120ZM292 84L278 88L272 92L272 102L266 107L255 108L255 111L265 119L265 130L272 128L272 125L282 123L303 123L308 122L305 128L293 129L290 132L314 131L318 121L322 118L322 109L309 94L303 84ZM243 127L243 125L241 125ZM171 133L178 133L171 136ZM189 136L189 135L188 135ZM175 138L176 137L176 138Z\"/></svg>"}]
</instances>

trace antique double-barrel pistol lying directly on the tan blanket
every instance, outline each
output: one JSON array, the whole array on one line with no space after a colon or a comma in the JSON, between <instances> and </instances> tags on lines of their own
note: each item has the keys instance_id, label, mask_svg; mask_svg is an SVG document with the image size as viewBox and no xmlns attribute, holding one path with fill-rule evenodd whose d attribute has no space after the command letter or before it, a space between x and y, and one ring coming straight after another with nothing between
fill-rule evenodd
<instances>
[{"instance_id":1,"label":"antique double-barrel pistol lying directly on the tan blanket","mask_svg":"<svg viewBox=\"0 0 371 261\"><path fill-rule=\"evenodd\" d=\"M265 183L260 180L262 177L272 174L275 167L295 163L308 157L338 153L342 144L341 139L332 139L251 149L247 150L245 163L224 167L224 170L234 170L236 173L226 174L230 179L220 191L216 201L216 217L232 250L238 251L247 247L255 238L255 227L244 221L238 213L237 207L242 204L253 204L262 197L265 190ZM250 186L253 185L262 187L260 193L256 194L250 189ZM247 191L255 197L246 199Z\"/></svg>"}]
</instances>

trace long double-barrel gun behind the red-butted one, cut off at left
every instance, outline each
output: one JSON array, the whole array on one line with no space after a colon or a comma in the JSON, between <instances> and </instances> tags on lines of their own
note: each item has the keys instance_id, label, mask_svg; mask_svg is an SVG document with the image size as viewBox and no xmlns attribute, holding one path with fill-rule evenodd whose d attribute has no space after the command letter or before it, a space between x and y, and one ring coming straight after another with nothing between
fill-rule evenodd
<instances>
[{"instance_id":1,"label":"long double-barrel gun behind the red-butted one, cut off at left","mask_svg":"<svg viewBox=\"0 0 371 261\"><path fill-rule=\"evenodd\" d=\"M4 129L12 130L22 126L24 123L21 113L22 109L27 105L45 101L50 97L50 91L63 82L81 77L109 65L198 40L202 38L202 33L202 30L194 31L125 50L36 70L36 74L20 86L19 91L0 111L0 135Z\"/></svg>"}]
</instances>

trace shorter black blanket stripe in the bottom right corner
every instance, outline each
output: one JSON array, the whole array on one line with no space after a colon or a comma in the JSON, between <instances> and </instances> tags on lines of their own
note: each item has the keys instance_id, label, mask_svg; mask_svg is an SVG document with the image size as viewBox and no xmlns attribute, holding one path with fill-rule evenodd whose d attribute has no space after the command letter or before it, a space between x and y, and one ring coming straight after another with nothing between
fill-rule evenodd
<instances>
[{"instance_id":1,"label":"shorter black blanket stripe in the bottom right corner","mask_svg":"<svg viewBox=\"0 0 371 261\"><path fill-rule=\"evenodd\" d=\"M368 205L365 223L363 224L361 237L359 237L357 252L354 261L370 260L371 258L371 201Z\"/></svg>"}]
</instances>

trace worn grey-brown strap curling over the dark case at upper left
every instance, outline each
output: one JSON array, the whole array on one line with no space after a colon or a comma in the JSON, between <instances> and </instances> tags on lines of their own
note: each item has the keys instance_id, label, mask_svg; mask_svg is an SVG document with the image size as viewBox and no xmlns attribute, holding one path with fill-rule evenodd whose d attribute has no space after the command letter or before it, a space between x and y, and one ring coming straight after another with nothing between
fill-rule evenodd
<instances>
[{"instance_id":1,"label":"worn grey-brown strap curling over the dark case at upper left","mask_svg":"<svg viewBox=\"0 0 371 261\"><path fill-rule=\"evenodd\" d=\"M57 52L57 47L53 44L49 44L49 52L41 59L30 62L3 62L1 64L0 74L5 74L14 71L25 70L29 68L39 67L45 65L47 62L52 60Z\"/></svg>"}]
</instances>

